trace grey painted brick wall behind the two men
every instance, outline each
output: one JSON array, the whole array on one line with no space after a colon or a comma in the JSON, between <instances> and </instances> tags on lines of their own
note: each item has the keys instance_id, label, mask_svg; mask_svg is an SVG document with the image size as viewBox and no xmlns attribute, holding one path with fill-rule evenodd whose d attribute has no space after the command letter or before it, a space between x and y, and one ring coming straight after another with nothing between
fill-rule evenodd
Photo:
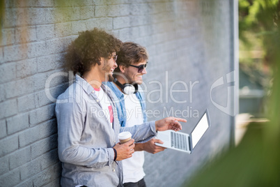
<instances>
[{"instance_id":1,"label":"grey painted brick wall behind the two men","mask_svg":"<svg viewBox=\"0 0 280 187\"><path fill-rule=\"evenodd\" d=\"M192 155L146 154L148 186L180 186L231 139L233 117L211 99L233 108L233 93L228 84L212 91L211 86L220 77L226 82L226 74L235 70L232 10L229 0L6 0L0 43L0 186L59 186L52 98L68 87L61 68L65 48L79 31L94 27L148 49L143 89L150 120L183 117L188 122L182 131L190 133L209 109L212 127ZM53 75L60 76L49 81Z\"/></svg>"}]
</instances>

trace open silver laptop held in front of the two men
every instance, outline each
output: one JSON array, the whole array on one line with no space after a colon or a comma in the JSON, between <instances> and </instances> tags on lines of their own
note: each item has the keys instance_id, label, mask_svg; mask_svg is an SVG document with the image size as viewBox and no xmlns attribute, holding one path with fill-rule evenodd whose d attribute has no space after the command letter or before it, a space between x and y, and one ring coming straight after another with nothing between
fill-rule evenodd
<instances>
[{"instance_id":1,"label":"open silver laptop held in front of the two men","mask_svg":"<svg viewBox=\"0 0 280 187\"><path fill-rule=\"evenodd\" d=\"M196 147L196 144L199 142L199 140L201 140L201 137L209 127L210 117L208 110L206 110L190 135L187 133L176 132L174 130L158 131L156 138L162 140L164 143L155 144L161 147L184 151L188 154L192 154L192 150L194 150L194 147Z\"/></svg>"}]
</instances>

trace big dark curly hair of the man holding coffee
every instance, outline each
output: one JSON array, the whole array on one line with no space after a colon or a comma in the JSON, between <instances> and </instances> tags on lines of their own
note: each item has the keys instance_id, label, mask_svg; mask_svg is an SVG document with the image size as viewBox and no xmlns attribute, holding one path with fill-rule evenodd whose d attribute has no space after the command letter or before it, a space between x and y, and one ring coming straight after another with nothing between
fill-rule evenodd
<instances>
[{"instance_id":1,"label":"big dark curly hair of the man holding coffee","mask_svg":"<svg viewBox=\"0 0 280 187\"><path fill-rule=\"evenodd\" d=\"M83 75L96 63L100 65L100 57L111 59L113 52L118 52L121 41L102 29L82 31L68 47L65 54L65 68L74 75Z\"/></svg>"}]
</instances>

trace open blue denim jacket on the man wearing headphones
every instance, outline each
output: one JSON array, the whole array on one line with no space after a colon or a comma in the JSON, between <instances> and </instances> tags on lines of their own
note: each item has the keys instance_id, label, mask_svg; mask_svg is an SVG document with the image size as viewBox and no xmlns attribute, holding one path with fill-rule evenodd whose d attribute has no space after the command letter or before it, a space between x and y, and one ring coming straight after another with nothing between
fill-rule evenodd
<instances>
[{"instance_id":1,"label":"open blue denim jacket on the man wearing headphones","mask_svg":"<svg viewBox=\"0 0 280 187\"><path fill-rule=\"evenodd\" d=\"M118 87L113 82L106 82L107 86L116 94L116 108L118 112L118 121L120 122L120 126L125 126L126 124L126 110L125 110L125 98L123 92L121 92ZM146 101L143 91L138 87L139 91L137 91L136 96L140 101L142 112L143 112L143 122L147 122L147 114L146 114Z\"/></svg>"}]
</instances>

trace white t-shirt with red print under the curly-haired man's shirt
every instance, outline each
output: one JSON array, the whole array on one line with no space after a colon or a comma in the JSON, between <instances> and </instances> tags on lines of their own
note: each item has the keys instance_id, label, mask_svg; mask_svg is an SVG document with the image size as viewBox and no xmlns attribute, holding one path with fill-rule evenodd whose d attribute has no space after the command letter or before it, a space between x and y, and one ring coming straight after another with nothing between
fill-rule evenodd
<instances>
[{"instance_id":1,"label":"white t-shirt with red print under the curly-haired man's shirt","mask_svg":"<svg viewBox=\"0 0 280 187\"><path fill-rule=\"evenodd\" d=\"M103 89L100 87L99 89L94 89L95 90L95 95L98 97L100 100L100 105L102 106L102 112L98 112L100 115L105 115L111 126L113 126L113 119L114 119L114 114L113 114L113 109L112 106L109 102L109 98L106 93L104 93Z\"/></svg>"}]
</instances>

